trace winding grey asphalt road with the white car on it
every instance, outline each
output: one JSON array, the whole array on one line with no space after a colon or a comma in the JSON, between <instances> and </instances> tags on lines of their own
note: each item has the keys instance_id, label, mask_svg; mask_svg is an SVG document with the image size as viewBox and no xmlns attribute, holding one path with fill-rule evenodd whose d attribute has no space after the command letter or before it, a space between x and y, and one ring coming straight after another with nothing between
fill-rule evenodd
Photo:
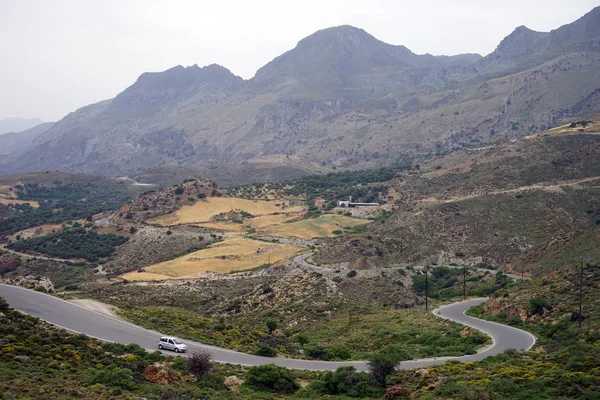
<instances>
[{"instance_id":1,"label":"winding grey asphalt road with the white car on it","mask_svg":"<svg viewBox=\"0 0 600 400\"><path fill-rule=\"evenodd\" d=\"M44 293L24 289L18 286L0 284L0 296L10 307L73 332L110 342L137 343L146 349L156 349L160 333L85 309L68 301ZM466 316L471 306L481 304L486 299L472 299L453 303L435 310L435 315L469 327L479 329L490 335L493 344L477 354L462 357L440 357L432 359L404 361L399 368L422 368L441 364L448 360L462 362L481 360L487 356L504 352L507 349L528 350L535 344L535 338L528 332ZM220 363L240 365L276 364L287 368L309 370L335 370L345 365L353 365L358 370L367 369L365 361L329 362L314 360L296 360L287 358L260 357L220 347L186 341L188 352L200 349L209 350L214 360ZM172 353L171 353L172 354Z\"/></svg>"}]
</instances>

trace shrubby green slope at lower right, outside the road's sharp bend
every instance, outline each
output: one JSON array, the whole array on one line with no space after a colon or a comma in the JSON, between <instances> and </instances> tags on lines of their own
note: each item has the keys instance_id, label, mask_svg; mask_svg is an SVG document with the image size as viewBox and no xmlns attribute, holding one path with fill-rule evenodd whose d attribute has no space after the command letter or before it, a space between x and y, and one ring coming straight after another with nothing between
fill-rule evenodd
<instances>
[{"instance_id":1,"label":"shrubby green slope at lower right, outside the road's sharp bend","mask_svg":"<svg viewBox=\"0 0 600 400\"><path fill-rule=\"evenodd\" d=\"M424 399L600 399L600 263L585 263L581 328L580 272L569 267L512 285L469 311L532 332L538 340L532 351L427 368L426 379L406 371L390 383ZM429 391L434 380L441 384Z\"/></svg>"}]
</instances>

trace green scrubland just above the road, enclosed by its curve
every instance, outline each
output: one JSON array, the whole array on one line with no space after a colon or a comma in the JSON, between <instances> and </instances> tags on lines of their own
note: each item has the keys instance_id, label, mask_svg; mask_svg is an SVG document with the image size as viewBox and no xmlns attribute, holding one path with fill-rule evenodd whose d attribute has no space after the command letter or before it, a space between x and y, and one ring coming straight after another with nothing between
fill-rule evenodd
<instances>
[{"instance_id":1,"label":"green scrubland just above the road, enclosed by its curve","mask_svg":"<svg viewBox=\"0 0 600 400\"><path fill-rule=\"evenodd\" d=\"M478 331L415 312L415 306L424 308L423 300L400 278L398 271L378 279L346 277L339 280L338 296L327 295L324 279L314 275L194 281L152 290L88 285L85 296L117 306L122 317L146 328L248 353L267 346L280 356L361 360L395 346L403 358L413 359L473 354L488 341ZM269 330L267 321L278 329Z\"/></svg>"}]
</instances>

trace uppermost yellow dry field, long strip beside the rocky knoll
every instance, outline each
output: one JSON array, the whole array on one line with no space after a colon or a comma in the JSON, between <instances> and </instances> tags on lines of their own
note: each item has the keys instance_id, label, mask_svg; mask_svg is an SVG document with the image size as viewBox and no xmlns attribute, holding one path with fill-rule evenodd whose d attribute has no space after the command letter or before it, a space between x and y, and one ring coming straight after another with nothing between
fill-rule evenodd
<instances>
[{"instance_id":1,"label":"uppermost yellow dry field, long strip beside the rocky knoll","mask_svg":"<svg viewBox=\"0 0 600 400\"><path fill-rule=\"evenodd\" d=\"M280 212L300 212L302 206L291 206L287 200L246 200L236 197L209 197L191 206L183 206L176 212L163 215L152 222L162 225L180 225L209 222L212 217L232 210L242 210L252 215L268 215Z\"/></svg>"}]
</instances>

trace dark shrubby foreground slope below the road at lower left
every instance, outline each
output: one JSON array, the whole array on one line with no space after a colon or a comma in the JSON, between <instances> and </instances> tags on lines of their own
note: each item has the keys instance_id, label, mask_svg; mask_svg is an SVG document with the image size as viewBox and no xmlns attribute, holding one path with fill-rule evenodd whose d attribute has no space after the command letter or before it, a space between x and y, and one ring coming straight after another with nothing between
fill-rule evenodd
<instances>
[{"instance_id":1,"label":"dark shrubby foreground slope below the road at lower left","mask_svg":"<svg viewBox=\"0 0 600 400\"><path fill-rule=\"evenodd\" d=\"M0 398L70 400L159 400L288 398L297 379L320 373L265 367L213 365L199 377L186 372L182 357L147 352L136 344L102 343L74 335L9 308L0 297ZM228 391L226 376L246 379ZM273 382L288 382L287 386ZM292 390L290 390L290 388ZM280 393L280 394L278 394ZM267 397L265 397L267 396ZM337 398L337 397L334 397Z\"/></svg>"}]
</instances>

